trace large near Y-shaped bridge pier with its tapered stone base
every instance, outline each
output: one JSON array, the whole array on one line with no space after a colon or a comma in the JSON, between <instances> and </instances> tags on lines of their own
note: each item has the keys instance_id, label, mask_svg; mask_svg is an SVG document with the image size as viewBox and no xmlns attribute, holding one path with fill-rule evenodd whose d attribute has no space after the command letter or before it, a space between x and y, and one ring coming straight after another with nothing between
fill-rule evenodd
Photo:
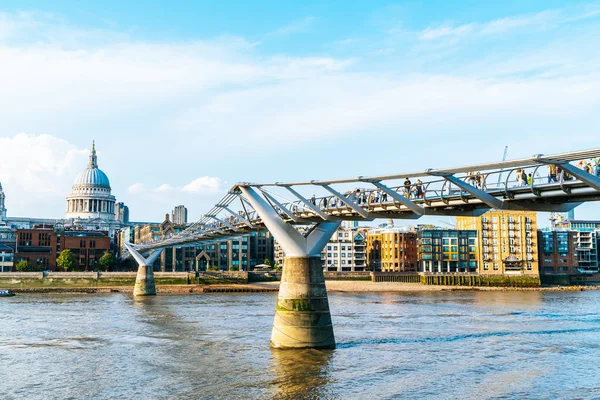
<instances>
[{"instance_id":1,"label":"large near Y-shaped bridge pier with its tapered stone base","mask_svg":"<svg viewBox=\"0 0 600 400\"><path fill-rule=\"evenodd\" d=\"M254 189L242 186L240 190L286 254L271 347L334 349L335 336L321 267L321 250L340 222L321 222L307 235L302 235L283 221Z\"/></svg>"}]
</instances>

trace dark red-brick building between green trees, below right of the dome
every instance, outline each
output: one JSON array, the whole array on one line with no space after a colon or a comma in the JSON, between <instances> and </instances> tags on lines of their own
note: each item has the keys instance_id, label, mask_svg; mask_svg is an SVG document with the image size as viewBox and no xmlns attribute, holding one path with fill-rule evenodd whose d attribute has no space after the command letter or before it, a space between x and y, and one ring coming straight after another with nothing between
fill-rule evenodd
<instances>
[{"instance_id":1,"label":"dark red-brick building between green trees, below right of the dome","mask_svg":"<svg viewBox=\"0 0 600 400\"><path fill-rule=\"evenodd\" d=\"M110 238L106 232L65 231L60 248L71 250L78 260L78 270L94 270L100 257L110 251Z\"/></svg>"}]
</instances>

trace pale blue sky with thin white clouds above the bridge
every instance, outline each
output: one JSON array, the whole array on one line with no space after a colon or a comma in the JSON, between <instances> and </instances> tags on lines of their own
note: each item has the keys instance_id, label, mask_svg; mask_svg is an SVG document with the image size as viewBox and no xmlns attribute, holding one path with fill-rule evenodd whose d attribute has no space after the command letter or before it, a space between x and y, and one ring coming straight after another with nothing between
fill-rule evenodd
<instances>
[{"instance_id":1,"label":"pale blue sky with thin white clouds above the bridge","mask_svg":"<svg viewBox=\"0 0 600 400\"><path fill-rule=\"evenodd\" d=\"M598 43L600 2L4 0L8 215L64 217L92 140L135 221L239 181L598 148Z\"/></svg>"}]
</instances>

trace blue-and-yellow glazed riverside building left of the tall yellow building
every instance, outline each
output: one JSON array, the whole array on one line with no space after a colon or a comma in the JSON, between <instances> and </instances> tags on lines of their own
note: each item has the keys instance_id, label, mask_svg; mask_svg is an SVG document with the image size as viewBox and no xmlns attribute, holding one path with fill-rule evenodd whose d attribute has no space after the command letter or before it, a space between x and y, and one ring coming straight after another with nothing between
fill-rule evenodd
<instances>
[{"instance_id":1,"label":"blue-and-yellow glazed riverside building left of the tall yellow building","mask_svg":"<svg viewBox=\"0 0 600 400\"><path fill-rule=\"evenodd\" d=\"M418 272L477 272L478 248L475 230L419 230Z\"/></svg>"}]
</instances>

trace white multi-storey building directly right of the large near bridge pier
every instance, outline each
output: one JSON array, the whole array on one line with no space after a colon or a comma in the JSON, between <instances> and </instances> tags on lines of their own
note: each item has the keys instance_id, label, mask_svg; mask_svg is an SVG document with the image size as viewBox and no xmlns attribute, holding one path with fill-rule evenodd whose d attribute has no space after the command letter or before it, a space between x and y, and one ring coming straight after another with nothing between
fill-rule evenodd
<instances>
[{"instance_id":1,"label":"white multi-storey building directly right of the large near bridge pier","mask_svg":"<svg viewBox=\"0 0 600 400\"><path fill-rule=\"evenodd\" d=\"M355 272L367 268L367 241L364 230L342 224L321 252L325 271Z\"/></svg>"}]
</instances>

